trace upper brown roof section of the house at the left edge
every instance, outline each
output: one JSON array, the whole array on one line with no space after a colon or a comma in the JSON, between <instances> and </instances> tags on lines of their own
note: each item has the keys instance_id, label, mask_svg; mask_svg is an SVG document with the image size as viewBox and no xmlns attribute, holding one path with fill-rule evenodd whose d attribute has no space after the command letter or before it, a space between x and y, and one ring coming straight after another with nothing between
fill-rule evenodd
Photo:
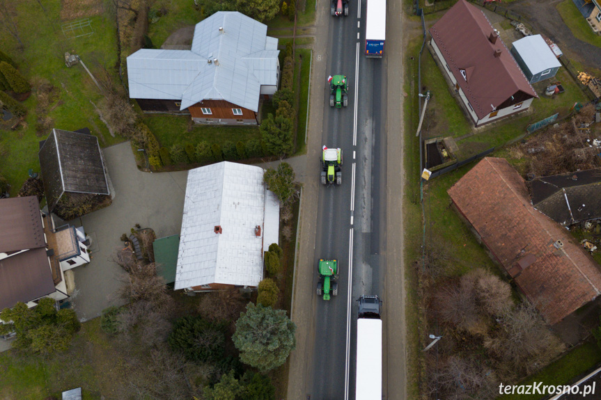
<instances>
[{"instance_id":1,"label":"upper brown roof section of the house at the left edge","mask_svg":"<svg viewBox=\"0 0 601 400\"><path fill-rule=\"evenodd\" d=\"M0 253L45 246L38 198L0 200Z\"/></svg>"}]
</instances>

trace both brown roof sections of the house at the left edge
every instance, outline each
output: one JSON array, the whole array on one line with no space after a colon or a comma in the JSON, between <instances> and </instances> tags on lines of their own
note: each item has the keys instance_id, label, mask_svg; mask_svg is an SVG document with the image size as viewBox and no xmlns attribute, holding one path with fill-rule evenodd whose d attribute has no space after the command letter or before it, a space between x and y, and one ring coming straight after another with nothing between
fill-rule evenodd
<instances>
[{"instance_id":1,"label":"both brown roof sections of the house at the left edge","mask_svg":"<svg viewBox=\"0 0 601 400\"><path fill-rule=\"evenodd\" d=\"M55 290L38 198L0 200L0 310Z\"/></svg>"}]
</instances>

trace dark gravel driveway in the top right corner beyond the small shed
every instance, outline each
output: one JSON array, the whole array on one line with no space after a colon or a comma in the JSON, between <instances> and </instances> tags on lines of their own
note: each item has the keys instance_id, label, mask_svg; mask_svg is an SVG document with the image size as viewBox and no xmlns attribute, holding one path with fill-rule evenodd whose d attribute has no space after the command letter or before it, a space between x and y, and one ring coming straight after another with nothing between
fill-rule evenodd
<instances>
[{"instance_id":1,"label":"dark gravel driveway in the top right corner beyond the small shed","mask_svg":"<svg viewBox=\"0 0 601 400\"><path fill-rule=\"evenodd\" d=\"M502 6L526 17L536 29L556 42L561 51L570 58L575 58L584 65L599 68L601 48L583 42L572 35L572 31L563 23L563 19L556 9L557 4L561 1L563 0L519 0L514 3L502 4Z\"/></svg>"}]
</instances>

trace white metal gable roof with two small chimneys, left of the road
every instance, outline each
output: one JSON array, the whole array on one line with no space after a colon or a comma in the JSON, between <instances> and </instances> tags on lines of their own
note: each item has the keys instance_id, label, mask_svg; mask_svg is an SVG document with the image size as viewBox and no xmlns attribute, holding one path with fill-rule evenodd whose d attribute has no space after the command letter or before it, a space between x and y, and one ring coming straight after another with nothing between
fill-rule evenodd
<instances>
[{"instance_id":1,"label":"white metal gable roof with two small chimneys, left of the road","mask_svg":"<svg viewBox=\"0 0 601 400\"><path fill-rule=\"evenodd\" d=\"M266 207L265 196L263 168L224 161L189 170L175 289L258 285L265 232L274 230L265 221L279 220L279 204ZM221 226L221 234L215 226Z\"/></svg>"}]
</instances>

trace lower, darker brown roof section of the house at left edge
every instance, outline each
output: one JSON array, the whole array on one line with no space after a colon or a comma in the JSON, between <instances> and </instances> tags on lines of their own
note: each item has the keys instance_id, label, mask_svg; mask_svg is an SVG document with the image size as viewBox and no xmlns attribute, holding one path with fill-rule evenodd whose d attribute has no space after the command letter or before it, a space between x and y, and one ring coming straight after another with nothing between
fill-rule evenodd
<instances>
[{"instance_id":1,"label":"lower, darker brown roof section of the house at left edge","mask_svg":"<svg viewBox=\"0 0 601 400\"><path fill-rule=\"evenodd\" d=\"M52 270L45 248L0 259L0 310L54 293Z\"/></svg>"}]
</instances>

